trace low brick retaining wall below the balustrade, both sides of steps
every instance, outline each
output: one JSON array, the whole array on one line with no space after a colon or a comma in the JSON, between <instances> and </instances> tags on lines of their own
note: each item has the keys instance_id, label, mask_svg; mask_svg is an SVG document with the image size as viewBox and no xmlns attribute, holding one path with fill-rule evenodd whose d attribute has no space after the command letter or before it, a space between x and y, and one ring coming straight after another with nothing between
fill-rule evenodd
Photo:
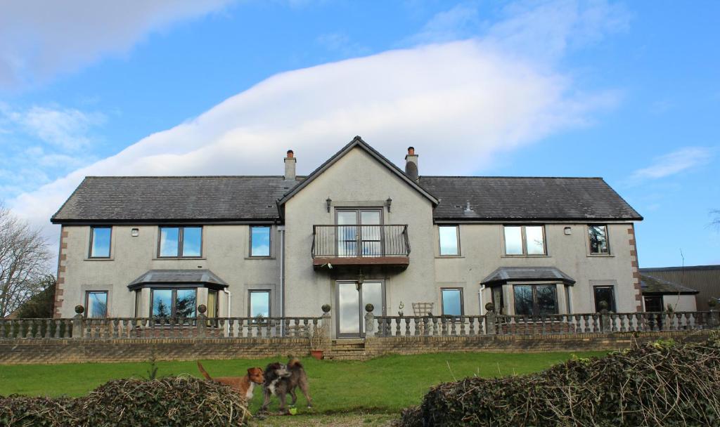
<instances>
[{"instance_id":1,"label":"low brick retaining wall below the balustrade, both sides of steps","mask_svg":"<svg viewBox=\"0 0 720 427\"><path fill-rule=\"evenodd\" d=\"M496 336L392 336L368 338L355 359L383 354L438 352L585 352L625 349L634 341L702 341L709 331L625 332ZM145 362L157 360L258 359L305 356L304 338L243 339L6 339L0 364Z\"/></svg>"}]
</instances>

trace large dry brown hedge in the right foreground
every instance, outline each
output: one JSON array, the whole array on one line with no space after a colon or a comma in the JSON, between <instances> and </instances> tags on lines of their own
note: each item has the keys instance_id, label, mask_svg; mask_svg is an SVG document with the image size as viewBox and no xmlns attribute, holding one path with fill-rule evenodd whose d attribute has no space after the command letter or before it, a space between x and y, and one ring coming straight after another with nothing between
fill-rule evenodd
<instances>
[{"instance_id":1,"label":"large dry brown hedge in the right foreground","mask_svg":"<svg viewBox=\"0 0 720 427\"><path fill-rule=\"evenodd\" d=\"M718 426L720 339L656 341L534 375L433 387L401 427Z\"/></svg>"}]
</instances>

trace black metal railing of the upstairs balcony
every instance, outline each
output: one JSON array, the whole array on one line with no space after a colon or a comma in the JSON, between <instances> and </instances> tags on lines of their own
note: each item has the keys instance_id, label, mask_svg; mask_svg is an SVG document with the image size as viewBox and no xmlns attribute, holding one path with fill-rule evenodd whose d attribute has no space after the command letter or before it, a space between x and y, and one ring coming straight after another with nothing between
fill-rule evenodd
<instances>
[{"instance_id":1,"label":"black metal railing of the upstairs balcony","mask_svg":"<svg viewBox=\"0 0 720 427\"><path fill-rule=\"evenodd\" d=\"M407 224L312 226L312 257L408 257Z\"/></svg>"}]
</instances>

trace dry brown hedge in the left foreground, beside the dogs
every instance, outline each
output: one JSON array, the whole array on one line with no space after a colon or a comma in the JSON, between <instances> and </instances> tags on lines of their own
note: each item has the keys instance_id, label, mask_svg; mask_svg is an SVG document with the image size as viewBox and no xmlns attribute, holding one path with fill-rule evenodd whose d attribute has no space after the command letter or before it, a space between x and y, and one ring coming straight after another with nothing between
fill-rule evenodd
<instances>
[{"instance_id":1,"label":"dry brown hedge in the left foreground, beside the dogs","mask_svg":"<svg viewBox=\"0 0 720 427\"><path fill-rule=\"evenodd\" d=\"M192 377L114 380L81 398L0 397L0 427L241 426L245 400Z\"/></svg>"}]
</instances>

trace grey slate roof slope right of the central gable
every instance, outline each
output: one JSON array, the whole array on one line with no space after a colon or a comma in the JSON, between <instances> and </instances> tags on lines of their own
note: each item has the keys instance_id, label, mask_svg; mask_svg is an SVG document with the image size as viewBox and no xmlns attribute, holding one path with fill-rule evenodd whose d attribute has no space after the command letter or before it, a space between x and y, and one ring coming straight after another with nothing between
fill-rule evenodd
<instances>
[{"instance_id":1,"label":"grey slate roof slope right of the central gable","mask_svg":"<svg viewBox=\"0 0 720 427\"><path fill-rule=\"evenodd\" d=\"M423 176L420 185L440 199L436 220L642 219L602 178Z\"/></svg>"}]
</instances>

